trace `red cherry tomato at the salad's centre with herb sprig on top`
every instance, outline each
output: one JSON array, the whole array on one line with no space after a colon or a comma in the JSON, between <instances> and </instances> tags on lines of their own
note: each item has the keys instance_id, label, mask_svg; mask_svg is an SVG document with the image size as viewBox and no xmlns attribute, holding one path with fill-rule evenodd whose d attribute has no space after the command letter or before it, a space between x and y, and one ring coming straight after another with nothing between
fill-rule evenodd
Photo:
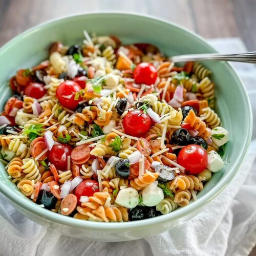
<instances>
[{"instance_id":1,"label":"red cherry tomato at the salad's centre with herb sprig on top","mask_svg":"<svg viewBox=\"0 0 256 256\"><path fill-rule=\"evenodd\" d=\"M126 134L140 137L145 134L151 126L151 119L142 110L128 112L123 118L123 128Z\"/></svg>"}]
</instances>

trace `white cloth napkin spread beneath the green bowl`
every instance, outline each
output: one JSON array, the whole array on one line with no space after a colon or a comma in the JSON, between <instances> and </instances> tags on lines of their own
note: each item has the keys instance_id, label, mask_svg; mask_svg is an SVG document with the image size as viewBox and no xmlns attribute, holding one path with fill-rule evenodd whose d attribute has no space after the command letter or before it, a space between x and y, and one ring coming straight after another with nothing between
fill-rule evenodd
<instances>
[{"instance_id":1,"label":"white cloth napkin spread beneath the green bowl","mask_svg":"<svg viewBox=\"0 0 256 256\"><path fill-rule=\"evenodd\" d=\"M209 42L222 53L246 51L238 38ZM234 67L246 84L256 115L256 68L241 63ZM256 140L237 176L198 216L137 241L108 243L62 236L30 221L0 195L0 255L247 255L256 242L255 157Z\"/></svg>"}]
</instances>

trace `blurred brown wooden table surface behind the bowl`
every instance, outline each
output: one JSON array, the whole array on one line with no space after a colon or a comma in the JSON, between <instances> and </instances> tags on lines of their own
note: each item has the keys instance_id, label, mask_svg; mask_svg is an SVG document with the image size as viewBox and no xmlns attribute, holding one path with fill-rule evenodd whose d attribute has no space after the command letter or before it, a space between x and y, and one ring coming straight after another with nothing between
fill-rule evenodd
<instances>
[{"instance_id":1,"label":"blurred brown wooden table surface behind the bowl","mask_svg":"<svg viewBox=\"0 0 256 256\"><path fill-rule=\"evenodd\" d=\"M249 51L256 50L255 0L0 0L0 47L46 20L99 10L150 14L206 38L241 37Z\"/></svg>"}]
</instances>

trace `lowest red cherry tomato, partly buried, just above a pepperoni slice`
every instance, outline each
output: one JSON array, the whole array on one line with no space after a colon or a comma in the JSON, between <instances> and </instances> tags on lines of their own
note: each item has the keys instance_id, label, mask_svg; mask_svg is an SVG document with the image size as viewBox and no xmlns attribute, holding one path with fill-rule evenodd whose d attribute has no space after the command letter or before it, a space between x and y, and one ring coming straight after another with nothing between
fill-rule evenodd
<instances>
[{"instance_id":1,"label":"lowest red cherry tomato, partly buried, just above a pepperoni slice","mask_svg":"<svg viewBox=\"0 0 256 256\"><path fill-rule=\"evenodd\" d=\"M75 189L78 204L81 206L81 196L92 197L95 192L99 192L99 183L96 180L83 180Z\"/></svg>"}]
</instances>

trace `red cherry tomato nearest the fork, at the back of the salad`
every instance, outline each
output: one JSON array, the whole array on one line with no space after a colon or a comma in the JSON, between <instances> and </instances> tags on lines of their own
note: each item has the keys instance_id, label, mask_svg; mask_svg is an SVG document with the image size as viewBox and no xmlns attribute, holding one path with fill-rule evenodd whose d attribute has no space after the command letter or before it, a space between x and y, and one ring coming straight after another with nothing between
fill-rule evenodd
<instances>
[{"instance_id":1,"label":"red cherry tomato nearest the fork, at the back of the salad","mask_svg":"<svg viewBox=\"0 0 256 256\"><path fill-rule=\"evenodd\" d=\"M154 84L157 79L157 70L151 63L140 63L133 72L136 83Z\"/></svg>"}]
</instances>

